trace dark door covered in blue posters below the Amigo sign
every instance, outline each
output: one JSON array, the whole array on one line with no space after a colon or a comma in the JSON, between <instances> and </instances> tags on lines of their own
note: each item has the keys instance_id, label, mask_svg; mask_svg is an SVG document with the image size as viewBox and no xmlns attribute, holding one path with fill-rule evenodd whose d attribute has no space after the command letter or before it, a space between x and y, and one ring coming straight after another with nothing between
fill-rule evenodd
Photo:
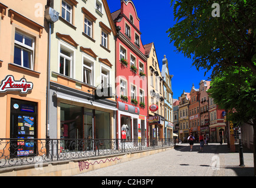
<instances>
[{"instance_id":1,"label":"dark door covered in blue posters below the Amigo sign","mask_svg":"<svg viewBox=\"0 0 256 188\"><path fill-rule=\"evenodd\" d=\"M37 138L37 103L11 99L11 155L34 156ZM14 140L15 139L15 140Z\"/></svg>"}]
</instances>

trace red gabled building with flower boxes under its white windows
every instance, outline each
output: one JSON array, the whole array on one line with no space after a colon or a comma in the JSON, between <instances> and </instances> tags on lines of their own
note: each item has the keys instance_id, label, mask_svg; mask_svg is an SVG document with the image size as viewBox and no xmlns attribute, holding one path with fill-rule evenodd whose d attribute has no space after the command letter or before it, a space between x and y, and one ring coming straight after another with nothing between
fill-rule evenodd
<instances>
[{"instance_id":1,"label":"red gabled building with flower boxes under its white windows","mask_svg":"<svg viewBox=\"0 0 256 188\"><path fill-rule=\"evenodd\" d=\"M147 58L140 38L140 19L132 1L121 1L121 8L111 16L118 32L116 137L144 139L147 136Z\"/></svg>"}]
</instances>

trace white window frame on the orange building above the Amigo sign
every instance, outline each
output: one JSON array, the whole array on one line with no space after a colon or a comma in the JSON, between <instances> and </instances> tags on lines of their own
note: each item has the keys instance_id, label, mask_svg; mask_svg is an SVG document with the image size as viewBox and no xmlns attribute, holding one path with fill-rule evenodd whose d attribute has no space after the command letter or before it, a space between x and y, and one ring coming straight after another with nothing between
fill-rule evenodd
<instances>
[{"instance_id":1,"label":"white window frame on the orange building above the Amigo sign","mask_svg":"<svg viewBox=\"0 0 256 188\"><path fill-rule=\"evenodd\" d=\"M18 33L19 35L22 35L22 42L19 42L19 41L16 41L15 40L15 36L14 36L14 48L17 47L17 48L21 48L21 66L25 67L24 66L24 56L23 56L23 51L30 51L31 52L31 55L30 55L30 68L28 69L31 69L31 70L34 70L34 52L35 52L35 39L22 33L22 32L18 32L18 31L15 31L15 34ZM28 38L28 39L31 39L32 40L32 46L28 46L25 44L25 38ZM15 63L15 62L14 62ZM17 63L15 63L17 64ZM27 68L27 67L25 67Z\"/></svg>"}]
</instances>

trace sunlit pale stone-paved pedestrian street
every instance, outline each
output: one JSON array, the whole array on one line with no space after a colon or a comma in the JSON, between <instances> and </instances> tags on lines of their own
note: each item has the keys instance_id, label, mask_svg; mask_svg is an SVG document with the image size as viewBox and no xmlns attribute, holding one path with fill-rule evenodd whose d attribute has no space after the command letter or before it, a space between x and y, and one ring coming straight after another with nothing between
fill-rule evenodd
<instances>
[{"instance_id":1,"label":"sunlit pale stone-paved pedestrian street","mask_svg":"<svg viewBox=\"0 0 256 188\"><path fill-rule=\"evenodd\" d=\"M77 176L253 176L253 153L244 152L245 167L239 166L239 153L229 153L227 144L209 143L199 152L199 143L190 152L180 144L165 152L104 167Z\"/></svg>"}]
</instances>

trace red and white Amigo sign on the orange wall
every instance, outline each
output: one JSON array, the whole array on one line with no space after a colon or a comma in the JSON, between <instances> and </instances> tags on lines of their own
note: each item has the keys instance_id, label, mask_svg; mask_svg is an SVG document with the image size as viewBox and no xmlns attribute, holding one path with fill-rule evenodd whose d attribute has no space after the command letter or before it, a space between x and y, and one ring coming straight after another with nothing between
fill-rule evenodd
<instances>
[{"instance_id":1,"label":"red and white Amigo sign on the orange wall","mask_svg":"<svg viewBox=\"0 0 256 188\"><path fill-rule=\"evenodd\" d=\"M0 93L8 91L19 91L20 93L24 94L28 93L28 91L32 89L32 82L27 82L25 78L22 78L19 81L15 81L14 76L12 75L6 76L0 85Z\"/></svg>"}]
</instances>

